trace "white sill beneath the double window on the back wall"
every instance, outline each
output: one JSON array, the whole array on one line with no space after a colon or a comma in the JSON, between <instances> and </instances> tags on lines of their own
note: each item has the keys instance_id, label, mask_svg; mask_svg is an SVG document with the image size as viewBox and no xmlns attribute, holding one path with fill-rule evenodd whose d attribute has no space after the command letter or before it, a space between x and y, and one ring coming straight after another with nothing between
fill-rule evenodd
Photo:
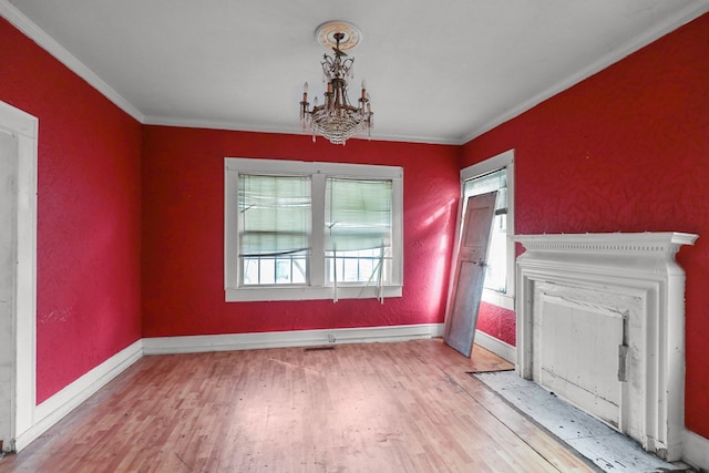
<instances>
[{"instance_id":1,"label":"white sill beneath the double window on the back wall","mask_svg":"<svg viewBox=\"0 0 709 473\"><path fill-rule=\"evenodd\" d=\"M384 286L382 288L384 299L401 297L401 286ZM253 288L227 288L225 290L227 302L251 302L271 300L319 300L335 299L332 287L311 286L269 286ZM337 299L377 299L380 297L376 287L342 286L337 288Z\"/></svg>"}]
</instances>

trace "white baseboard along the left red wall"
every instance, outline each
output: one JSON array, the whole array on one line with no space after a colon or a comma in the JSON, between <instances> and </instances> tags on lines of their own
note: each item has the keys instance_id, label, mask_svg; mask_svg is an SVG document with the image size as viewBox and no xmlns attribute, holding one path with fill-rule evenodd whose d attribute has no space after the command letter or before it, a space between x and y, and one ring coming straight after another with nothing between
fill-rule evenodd
<instances>
[{"instance_id":1,"label":"white baseboard along the left red wall","mask_svg":"<svg viewBox=\"0 0 709 473\"><path fill-rule=\"evenodd\" d=\"M142 357L143 340L137 340L37 405L32 426L16 436L16 451L24 449Z\"/></svg>"}]
</instances>

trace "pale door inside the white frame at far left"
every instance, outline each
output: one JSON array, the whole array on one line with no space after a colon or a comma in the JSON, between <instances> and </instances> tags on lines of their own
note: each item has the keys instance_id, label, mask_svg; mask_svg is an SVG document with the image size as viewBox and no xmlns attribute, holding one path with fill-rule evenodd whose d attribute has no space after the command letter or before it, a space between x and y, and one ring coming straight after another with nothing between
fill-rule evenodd
<instances>
[{"instance_id":1,"label":"pale door inside the white frame at far left","mask_svg":"<svg viewBox=\"0 0 709 473\"><path fill-rule=\"evenodd\" d=\"M0 128L0 441L14 432L14 270L17 261L17 137Z\"/></svg>"}]
</instances>

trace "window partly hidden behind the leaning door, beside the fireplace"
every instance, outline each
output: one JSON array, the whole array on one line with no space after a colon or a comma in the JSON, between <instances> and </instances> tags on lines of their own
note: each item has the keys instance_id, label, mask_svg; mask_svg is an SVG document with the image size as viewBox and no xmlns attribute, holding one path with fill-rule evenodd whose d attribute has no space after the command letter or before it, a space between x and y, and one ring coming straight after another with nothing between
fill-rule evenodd
<instances>
[{"instance_id":1,"label":"window partly hidden behind the leaning door, beside the fireplace","mask_svg":"<svg viewBox=\"0 0 709 473\"><path fill-rule=\"evenodd\" d=\"M508 151L461 171L461 216L465 215L467 197L497 191L483 300L507 309L514 309L513 161L514 152Z\"/></svg>"}]
</instances>

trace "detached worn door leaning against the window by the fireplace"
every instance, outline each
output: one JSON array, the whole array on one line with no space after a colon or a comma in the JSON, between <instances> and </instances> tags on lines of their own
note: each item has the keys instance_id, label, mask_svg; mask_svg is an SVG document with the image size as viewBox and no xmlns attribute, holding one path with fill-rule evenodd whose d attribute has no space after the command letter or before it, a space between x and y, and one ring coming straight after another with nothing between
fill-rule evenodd
<instances>
[{"instance_id":1,"label":"detached worn door leaning against the window by the fireplace","mask_svg":"<svg viewBox=\"0 0 709 473\"><path fill-rule=\"evenodd\" d=\"M496 197L495 191L467 198L463 236L455 258L443 341L466 357L473 351Z\"/></svg>"}]
</instances>

